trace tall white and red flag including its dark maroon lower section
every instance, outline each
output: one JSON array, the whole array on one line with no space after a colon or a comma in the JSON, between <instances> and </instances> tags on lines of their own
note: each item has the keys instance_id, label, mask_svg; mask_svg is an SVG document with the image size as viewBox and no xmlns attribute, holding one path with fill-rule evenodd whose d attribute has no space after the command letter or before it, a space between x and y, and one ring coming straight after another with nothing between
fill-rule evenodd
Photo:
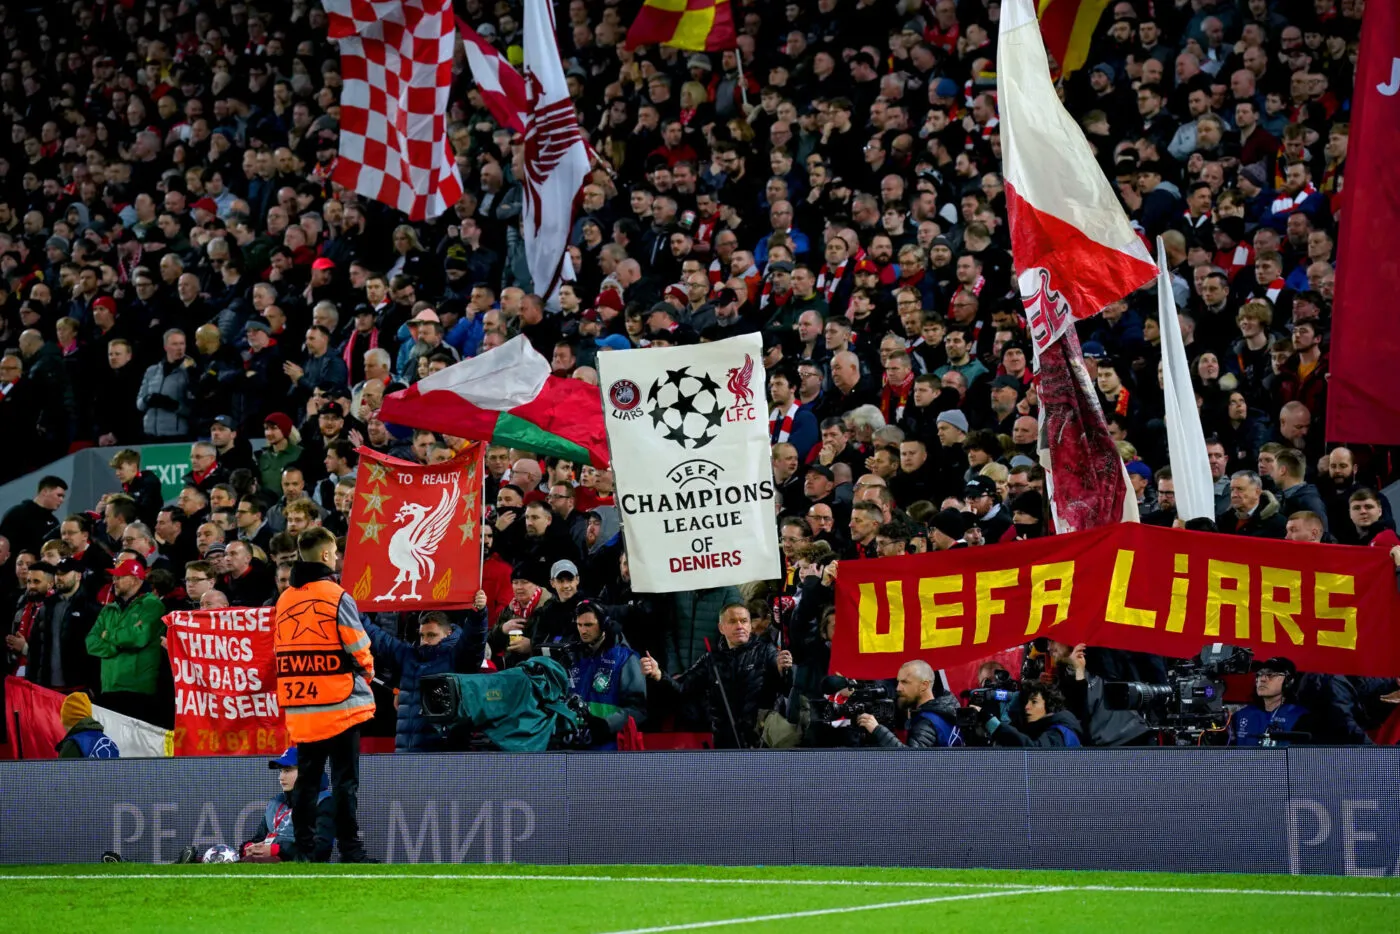
<instances>
[{"instance_id":1,"label":"tall white and red flag including its dark maroon lower section","mask_svg":"<svg viewBox=\"0 0 1400 934\"><path fill-rule=\"evenodd\" d=\"M1135 497L1071 325L1152 281L1156 265L1054 92L1032 0L1005 0L1000 28L1011 252L1035 344L1050 508L1060 531L1131 521Z\"/></svg>"}]
</instances>

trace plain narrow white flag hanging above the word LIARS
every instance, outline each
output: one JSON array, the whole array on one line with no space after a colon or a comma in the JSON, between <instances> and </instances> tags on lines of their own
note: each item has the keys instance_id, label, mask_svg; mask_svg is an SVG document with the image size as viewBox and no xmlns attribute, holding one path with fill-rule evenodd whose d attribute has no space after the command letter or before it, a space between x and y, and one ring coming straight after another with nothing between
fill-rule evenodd
<instances>
[{"instance_id":1,"label":"plain narrow white flag hanging above the word LIARS","mask_svg":"<svg viewBox=\"0 0 1400 934\"><path fill-rule=\"evenodd\" d=\"M1162 330L1162 391L1166 395L1166 444L1172 458L1176 515L1183 520L1214 520L1211 462L1205 455L1201 413L1196 407L1196 389L1186 364L1186 343L1176 318L1172 273L1161 237L1156 238L1156 307Z\"/></svg>"}]
</instances>

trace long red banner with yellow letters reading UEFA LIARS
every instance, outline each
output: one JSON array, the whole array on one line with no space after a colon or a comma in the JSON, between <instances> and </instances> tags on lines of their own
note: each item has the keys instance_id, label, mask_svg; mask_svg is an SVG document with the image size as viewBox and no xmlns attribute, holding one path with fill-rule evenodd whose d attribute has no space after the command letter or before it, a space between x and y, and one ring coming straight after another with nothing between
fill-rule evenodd
<instances>
[{"instance_id":1,"label":"long red banner with yellow letters reading UEFA LIARS","mask_svg":"<svg viewBox=\"0 0 1400 934\"><path fill-rule=\"evenodd\" d=\"M1047 636L1189 658L1210 643L1299 671L1393 678L1400 595L1378 548L1137 522L1049 539L841 562L832 671L893 678Z\"/></svg>"}]
</instances>

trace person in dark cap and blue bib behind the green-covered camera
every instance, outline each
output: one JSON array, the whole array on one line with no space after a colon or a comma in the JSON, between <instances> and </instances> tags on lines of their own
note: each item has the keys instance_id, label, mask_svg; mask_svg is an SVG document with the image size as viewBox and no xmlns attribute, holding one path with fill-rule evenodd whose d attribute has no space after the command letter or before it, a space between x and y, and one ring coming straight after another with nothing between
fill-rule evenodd
<instances>
[{"instance_id":1,"label":"person in dark cap and blue bib behind the green-covered camera","mask_svg":"<svg viewBox=\"0 0 1400 934\"><path fill-rule=\"evenodd\" d=\"M616 749L617 732L627 725L627 718L638 725L647 718L647 679L641 674L641 660L596 604L578 604L574 625L578 641L570 647L570 690L588 706L591 748Z\"/></svg>"}]
</instances>

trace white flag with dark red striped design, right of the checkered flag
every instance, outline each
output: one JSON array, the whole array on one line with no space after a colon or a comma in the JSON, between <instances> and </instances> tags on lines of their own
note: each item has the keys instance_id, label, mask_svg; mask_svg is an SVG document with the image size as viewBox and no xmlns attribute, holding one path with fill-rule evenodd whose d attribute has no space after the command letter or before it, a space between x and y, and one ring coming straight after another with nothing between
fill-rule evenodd
<instances>
[{"instance_id":1,"label":"white flag with dark red striped design, right of the checkered flag","mask_svg":"<svg viewBox=\"0 0 1400 934\"><path fill-rule=\"evenodd\" d=\"M574 203L588 179L589 158L568 97L554 42L549 0L525 0L525 262L535 294L557 305L560 283L574 279L568 231Z\"/></svg>"}]
</instances>

